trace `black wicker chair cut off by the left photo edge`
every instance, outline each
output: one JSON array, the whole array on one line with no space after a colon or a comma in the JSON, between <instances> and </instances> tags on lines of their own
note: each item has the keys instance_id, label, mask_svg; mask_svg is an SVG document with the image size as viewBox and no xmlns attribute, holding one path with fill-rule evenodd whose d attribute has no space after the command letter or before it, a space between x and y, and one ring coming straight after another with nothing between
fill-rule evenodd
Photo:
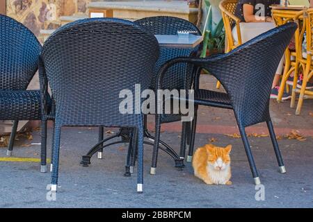
<instances>
[{"instance_id":1,"label":"black wicker chair cut off by the left photo edge","mask_svg":"<svg viewBox=\"0 0 313 222\"><path fill-rule=\"evenodd\" d=\"M41 45L23 24L0 15L0 119L14 120L7 155L12 155L19 120L41 120L40 90L26 90L38 69ZM49 101L48 101L49 107ZM47 171L42 121L41 171Z\"/></svg>"}]
</instances>

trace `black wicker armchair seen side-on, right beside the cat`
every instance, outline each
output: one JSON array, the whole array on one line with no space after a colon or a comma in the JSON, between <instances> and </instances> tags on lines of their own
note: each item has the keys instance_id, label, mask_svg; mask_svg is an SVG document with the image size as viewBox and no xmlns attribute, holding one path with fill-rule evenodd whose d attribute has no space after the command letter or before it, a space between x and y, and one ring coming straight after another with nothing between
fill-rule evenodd
<instances>
[{"instance_id":1,"label":"black wicker armchair seen side-on, right beside the cat","mask_svg":"<svg viewBox=\"0 0 313 222\"><path fill-rule=\"evenodd\" d=\"M183 62L198 67L194 81L195 118L192 123L189 155L193 153L198 105L227 108L234 110L255 184L259 184L260 180L245 131L247 126L266 121L280 172L286 172L269 113L269 96L275 70L296 27L295 23L288 23L255 37L230 53L209 58L175 58L161 68L157 89L163 88L163 76L172 65ZM226 93L199 89L202 68L222 83ZM159 126L156 126L156 130L157 127Z\"/></svg>"}]
</instances>

